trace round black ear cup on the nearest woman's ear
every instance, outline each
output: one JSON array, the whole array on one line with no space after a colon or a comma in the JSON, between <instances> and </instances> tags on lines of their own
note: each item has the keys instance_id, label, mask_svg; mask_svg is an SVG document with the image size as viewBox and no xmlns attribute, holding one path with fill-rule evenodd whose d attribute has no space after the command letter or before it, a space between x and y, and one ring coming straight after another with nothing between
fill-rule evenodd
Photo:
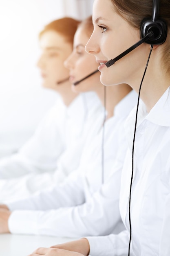
<instances>
[{"instance_id":1,"label":"round black ear cup on the nearest woman's ear","mask_svg":"<svg viewBox=\"0 0 170 256\"><path fill-rule=\"evenodd\" d=\"M149 45L161 45L165 42L167 37L167 25L163 20L148 20L144 19L141 22L140 36L144 38L150 31L153 35L148 38L146 43Z\"/></svg>"}]
</instances>

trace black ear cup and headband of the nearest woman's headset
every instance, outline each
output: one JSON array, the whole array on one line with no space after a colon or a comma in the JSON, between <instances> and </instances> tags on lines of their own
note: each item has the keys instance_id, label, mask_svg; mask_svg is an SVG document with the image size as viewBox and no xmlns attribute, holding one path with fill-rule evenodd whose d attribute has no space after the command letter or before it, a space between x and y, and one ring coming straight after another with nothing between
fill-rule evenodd
<instances>
[{"instance_id":1,"label":"black ear cup and headband of the nearest woman's headset","mask_svg":"<svg viewBox=\"0 0 170 256\"><path fill-rule=\"evenodd\" d=\"M144 38L150 31L152 36L145 43L150 45L161 45L165 42L167 36L167 25L162 19L159 19L159 0L153 0L152 19L144 18L141 22L140 36Z\"/></svg>"}]
</instances>

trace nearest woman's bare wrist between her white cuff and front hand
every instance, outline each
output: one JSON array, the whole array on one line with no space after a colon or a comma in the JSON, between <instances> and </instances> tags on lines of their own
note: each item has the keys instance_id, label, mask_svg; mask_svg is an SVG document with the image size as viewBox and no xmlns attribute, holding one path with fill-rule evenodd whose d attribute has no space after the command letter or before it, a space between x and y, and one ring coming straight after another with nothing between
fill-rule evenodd
<instances>
[{"instance_id":1,"label":"nearest woman's bare wrist between her white cuff and front hand","mask_svg":"<svg viewBox=\"0 0 170 256\"><path fill-rule=\"evenodd\" d=\"M68 243L63 243L60 245L53 245L51 248L64 249L73 252L79 252L83 255L88 255L90 251L90 245L86 238L81 238L79 240L71 241Z\"/></svg>"}]
</instances>

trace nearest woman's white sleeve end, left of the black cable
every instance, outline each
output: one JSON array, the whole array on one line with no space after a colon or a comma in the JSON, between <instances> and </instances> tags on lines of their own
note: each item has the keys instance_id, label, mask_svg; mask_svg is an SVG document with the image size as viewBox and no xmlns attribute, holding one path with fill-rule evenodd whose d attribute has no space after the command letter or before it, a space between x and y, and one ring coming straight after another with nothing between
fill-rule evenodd
<instances>
[{"instance_id":1,"label":"nearest woman's white sleeve end, left of the black cable","mask_svg":"<svg viewBox=\"0 0 170 256\"><path fill-rule=\"evenodd\" d=\"M118 235L86 237L90 245L92 256L127 256L129 234L127 230Z\"/></svg>"}]
</instances>

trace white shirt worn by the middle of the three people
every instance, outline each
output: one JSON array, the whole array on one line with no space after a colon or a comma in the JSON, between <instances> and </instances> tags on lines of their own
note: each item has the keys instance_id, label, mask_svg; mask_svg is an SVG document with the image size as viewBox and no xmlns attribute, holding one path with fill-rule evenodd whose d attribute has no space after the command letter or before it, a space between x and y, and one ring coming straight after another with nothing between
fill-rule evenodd
<instances>
[{"instance_id":1,"label":"white shirt worn by the middle of the three people","mask_svg":"<svg viewBox=\"0 0 170 256\"><path fill-rule=\"evenodd\" d=\"M121 169L127 150L124 120L137 102L132 91L116 106L104 128L102 184L102 126L88 140L79 168L51 190L7 204L13 211L9 230L16 234L79 237L118 233L124 229L119 213Z\"/></svg>"}]
</instances>

